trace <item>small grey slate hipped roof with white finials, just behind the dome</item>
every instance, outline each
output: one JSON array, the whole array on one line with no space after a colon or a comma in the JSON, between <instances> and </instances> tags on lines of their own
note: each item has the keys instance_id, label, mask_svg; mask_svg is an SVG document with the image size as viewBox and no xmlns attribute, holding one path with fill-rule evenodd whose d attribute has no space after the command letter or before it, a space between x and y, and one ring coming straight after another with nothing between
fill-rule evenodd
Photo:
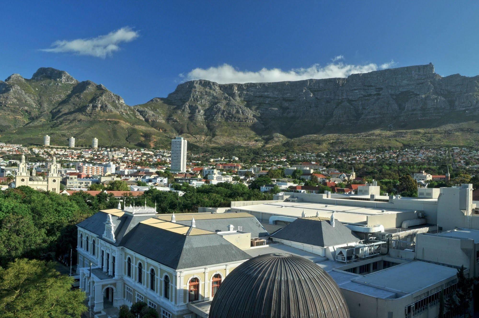
<instances>
[{"instance_id":1,"label":"small grey slate hipped roof with white finials, just behind the dome","mask_svg":"<svg viewBox=\"0 0 479 318\"><path fill-rule=\"evenodd\" d=\"M297 218L274 233L272 237L321 247L360 240L352 230L338 220L334 222L334 227L332 227L330 221L323 221L314 217Z\"/></svg>"}]
</instances>

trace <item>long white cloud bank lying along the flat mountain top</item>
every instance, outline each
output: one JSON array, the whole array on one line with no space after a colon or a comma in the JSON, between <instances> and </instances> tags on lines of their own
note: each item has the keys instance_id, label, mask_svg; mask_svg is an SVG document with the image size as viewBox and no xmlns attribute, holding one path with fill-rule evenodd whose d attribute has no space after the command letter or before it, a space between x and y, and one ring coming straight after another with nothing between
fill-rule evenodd
<instances>
[{"instance_id":1,"label":"long white cloud bank lying along the flat mountain top","mask_svg":"<svg viewBox=\"0 0 479 318\"><path fill-rule=\"evenodd\" d=\"M336 57L335 57L336 58ZM220 84L227 83L249 83L249 82L280 82L285 80L301 79L327 79L334 77L348 77L355 73L372 72L380 68L388 68L394 63L382 64L378 67L374 63L364 65L353 65L339 63L330 63L324 67L314 64L309 68L293 68L291 70L281 70L280 68L262 68L259 71L241 71L233 68L229 64L223 64L218 67L195 68L188 74L181 74L180 77L185 80L207 79Z\"/></svg>"}]
</instances>

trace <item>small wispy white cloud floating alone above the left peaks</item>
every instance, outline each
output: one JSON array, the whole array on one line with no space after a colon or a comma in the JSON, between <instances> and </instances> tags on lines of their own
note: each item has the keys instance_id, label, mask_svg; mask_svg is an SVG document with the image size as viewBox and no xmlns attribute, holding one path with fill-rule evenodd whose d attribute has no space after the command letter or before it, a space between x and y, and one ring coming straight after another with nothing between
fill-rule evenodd
<instances>
[{"instance_id":1,"label":"small wispy white cloud floating alone above the left peaks","mask_svg":"<svg viewBox=\"0 0 479 318\"><path fill-rule=\"evenodd\" d=\"M106 35L100 35L90 39L58 40L52 44L52 48L42 49L45 52L54 53L76 53L80 55L91 55L93 57L111 56L113 52L120 49L119 44L131 42L138 37L138 32L130 27L123 27Z\"/></svg>"}]
</instances>

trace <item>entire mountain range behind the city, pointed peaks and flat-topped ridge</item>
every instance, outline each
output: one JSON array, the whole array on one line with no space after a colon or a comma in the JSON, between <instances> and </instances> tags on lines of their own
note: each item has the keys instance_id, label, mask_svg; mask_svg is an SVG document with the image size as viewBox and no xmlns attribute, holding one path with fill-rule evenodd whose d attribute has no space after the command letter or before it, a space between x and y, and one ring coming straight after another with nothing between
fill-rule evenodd
<instances>
[{"instance_id":1,"label":"entire mountain range behind the city, pointed peaks and flat-topped ridge","mask_svg":"<svg viewBox=\"0 0 479 318\"><path fill-rule=\"evenodd\" d=\"M32 79L13 74L0 81L0 112L6 115L0 129L6 139L18 127L62 138L55 129L64 127L85 139L109 129L104 137L112 145L166 144L180 134L198 145L477 146L478 81L459 74L441 77L432 64L333 79L193 80L166 98L130 107L103 85L40 68ZM102 126L107 121L110 125Z\"/></svg>"}]
</instances>

